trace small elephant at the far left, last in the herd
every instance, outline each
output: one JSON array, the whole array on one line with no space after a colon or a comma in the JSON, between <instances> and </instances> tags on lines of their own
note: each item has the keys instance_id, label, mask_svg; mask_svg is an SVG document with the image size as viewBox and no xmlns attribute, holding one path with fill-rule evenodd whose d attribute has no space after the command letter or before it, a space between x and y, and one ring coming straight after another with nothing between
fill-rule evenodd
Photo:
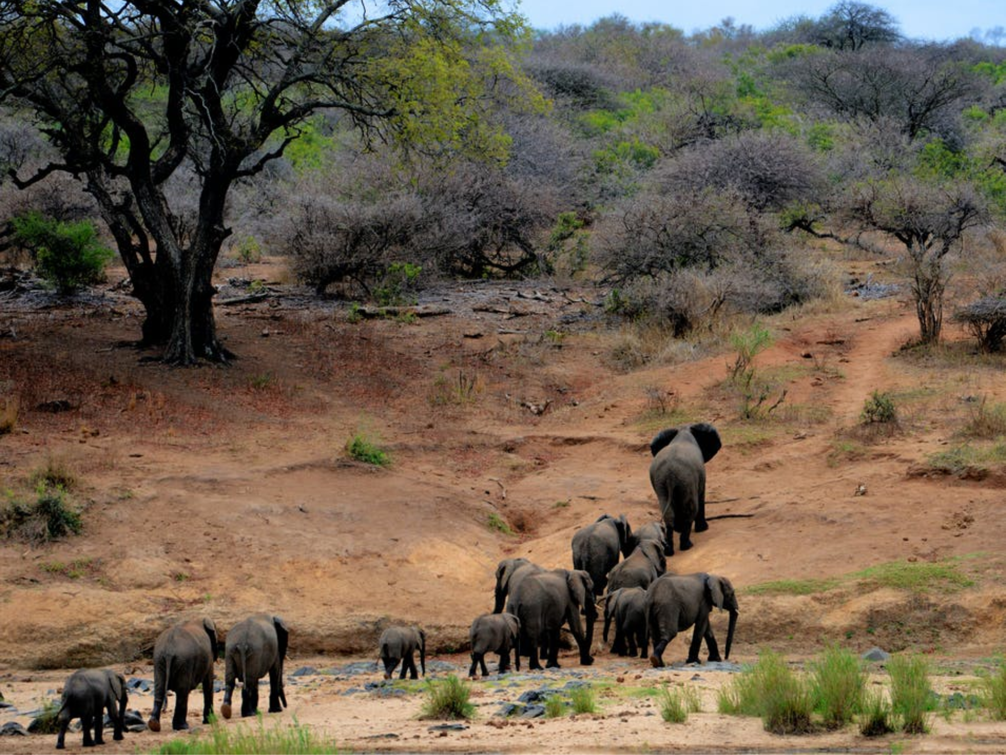
<instances>
[{"instance_id":1,"label":"small elephant at the far left, last in the herd","mask_svg":"<svg viewBox=\"0 0 1006 755\"><path fill-rule=\"evenodd\" d=\"M73 671L63 685L62 702L56 714L59 733L56 735L56 749L65 749L66 729L72 719L80 719L83 729L83 746L104 745L102 729L105 724L105 709L109 711L115 733L113 739L123 738L126 728L126 677L109 668L81 668ZM116 708L116 704L119 707ZM95 737L91 731L94 728Z\"/></svg>"}]
</instances>

